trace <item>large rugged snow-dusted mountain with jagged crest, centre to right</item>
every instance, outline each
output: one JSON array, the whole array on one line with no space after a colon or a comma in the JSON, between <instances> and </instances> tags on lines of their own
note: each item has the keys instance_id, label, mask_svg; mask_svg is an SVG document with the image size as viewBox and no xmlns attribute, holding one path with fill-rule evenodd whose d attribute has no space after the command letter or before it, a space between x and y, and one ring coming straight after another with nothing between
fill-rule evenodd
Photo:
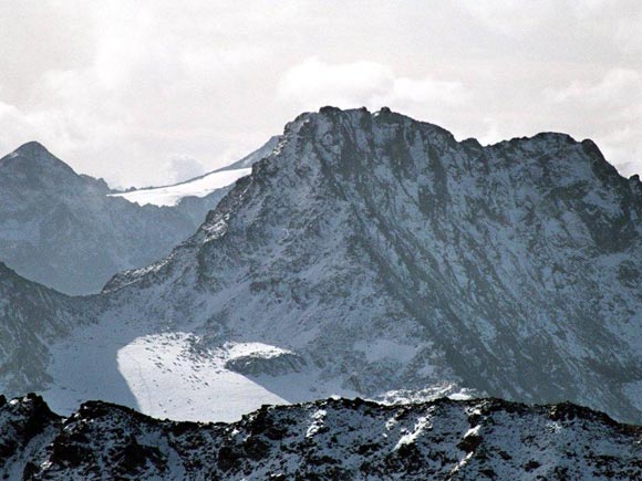
<instances>
[{"instance_id":1,"label":"large rugged snow-dusted mountain with jagged crest, centre to right","mask_svg":"<svg viewBox=\"0 0 642 481\"><path fill-rule=\"evenodd\" d=\"M172 391L199 406L195 419L224 402L216 376L241 366L235 375L283 401L472 389L640 422L641 215L639 179L590 140L482 146L389 109L323 108L288 124L167 258L116 275L81 307L52 297L39 322L64 313L74 327L40 339L38 365L12 376L50 389L54 406L107 398L56 367L89 356L131 389L107 400L180 417L153 381L188 378L158 367L179 346L195 378L220 366ZM19 356L31 327L3 309L15 327L0 348Z\"/></svg>"}]
</instances>

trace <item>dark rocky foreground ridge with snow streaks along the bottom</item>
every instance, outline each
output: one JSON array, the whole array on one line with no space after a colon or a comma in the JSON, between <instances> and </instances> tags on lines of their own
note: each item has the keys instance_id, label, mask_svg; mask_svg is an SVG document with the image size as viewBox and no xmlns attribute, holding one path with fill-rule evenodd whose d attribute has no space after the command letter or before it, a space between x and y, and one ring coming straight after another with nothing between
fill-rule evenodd
<instances>
[{"instance_id":1,"label":"dark rocky foreground ridge with snow streaks along the bottom","mask_svg":"<svg viewBox=\"0 0 642 481\"><path fill-rule=\"evenodd\" d=\"M640 479L642 428L570 404L329 399L225 425L0 398L6 479Z\"/></svg>"}]
</instances>

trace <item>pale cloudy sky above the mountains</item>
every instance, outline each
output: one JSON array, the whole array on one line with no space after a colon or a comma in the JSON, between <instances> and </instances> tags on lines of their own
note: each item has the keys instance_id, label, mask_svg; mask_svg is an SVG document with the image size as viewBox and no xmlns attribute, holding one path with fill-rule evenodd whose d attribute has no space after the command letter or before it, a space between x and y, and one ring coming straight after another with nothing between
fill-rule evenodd
<instances>
[{"instance_id":1,"label":"pale cloudy sky above the mountains","mask_svg":"<svg viewBox=\"0 0 642 481\"><path fill-rule=\"evenodd\" d=\"M3 0L0 59L0 154L38 139L114 186L213 170L322 105L567 132L642 172L639 0Z\"/></svg>"}]
</instances>

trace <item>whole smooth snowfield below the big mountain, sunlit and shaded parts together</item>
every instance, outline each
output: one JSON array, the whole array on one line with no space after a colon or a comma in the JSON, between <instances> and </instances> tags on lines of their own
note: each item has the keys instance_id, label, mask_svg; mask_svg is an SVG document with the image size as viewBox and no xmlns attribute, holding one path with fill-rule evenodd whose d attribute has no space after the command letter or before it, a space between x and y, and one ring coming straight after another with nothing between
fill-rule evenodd
<instances>
[{"instance_id":1,"label":"whole smooth snowfield below the big mountain, sunlit and shaded parts together","mask_svg":"<svg viewBox=\"0 0 642 481\"><path fill-rule=\"evenodd\" d=\"M267 404L356 395L335 381L319 379L313 369L245 376L227 367L241 358L291 354L276 346L226 342L195 352L199 338L194 334L138 334L132 326L112 332L92 325L53 346L49 372L53 380L44 391L52 409L69 415L87 399L101 399L161 419L236 421Z\"/></svg>"}]
</instances>

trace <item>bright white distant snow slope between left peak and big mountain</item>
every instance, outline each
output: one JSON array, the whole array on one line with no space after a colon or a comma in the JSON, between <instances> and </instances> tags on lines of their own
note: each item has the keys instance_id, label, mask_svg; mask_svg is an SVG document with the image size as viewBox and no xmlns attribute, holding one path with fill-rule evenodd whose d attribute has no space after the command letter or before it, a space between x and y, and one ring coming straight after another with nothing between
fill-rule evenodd
<instances>
[{"instance_id":1,"label":"bright white distant snow slope between left peak and big mountain","mask_svg":"<svg viewBox=\"0 0 642 481\"><path fill-rule=\"evenodd\" d=\"M135 202L141 206L149 203L154 206L176 206L186 197L205 197L216 190L220 191L230 187L241 177L248 176L251 172L251 166L263 157L270 155L278 143L279 137L273 136L262 147L247 157L244 157L227 167L185 182L164 187L130 190L121 194L111 194L111 196L122 197L130 202ZM227 194L227 190L228 189L225 190L225 194Z\"/></svg>"}]
</instances>

